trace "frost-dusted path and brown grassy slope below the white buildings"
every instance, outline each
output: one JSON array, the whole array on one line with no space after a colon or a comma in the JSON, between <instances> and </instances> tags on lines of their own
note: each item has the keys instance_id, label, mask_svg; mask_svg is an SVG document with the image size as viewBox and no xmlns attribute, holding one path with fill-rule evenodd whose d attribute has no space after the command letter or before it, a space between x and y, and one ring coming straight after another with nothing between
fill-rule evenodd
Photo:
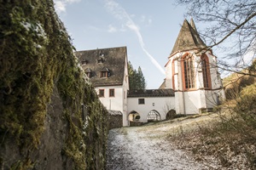
<instances>
[{"instance_id":1,"label":"frost-dusted path and brown grassy slope below the white buildings","mask_svg":"<svg viewBox=\"0 0 256 170\"><path fill-rule=\"evenodd\" d=\"M230 113L112 129L108 134L107 169L253 169L243 153L226 150L222 136L207 136L207 129L224 118L230 119Z\"/></svg>"}]
</instances>

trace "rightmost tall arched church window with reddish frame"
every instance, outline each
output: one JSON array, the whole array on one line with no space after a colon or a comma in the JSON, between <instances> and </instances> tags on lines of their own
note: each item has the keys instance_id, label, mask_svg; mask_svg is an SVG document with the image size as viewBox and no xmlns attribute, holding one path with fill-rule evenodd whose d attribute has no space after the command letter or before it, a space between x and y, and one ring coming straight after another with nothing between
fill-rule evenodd
<instances>
[{"instance_id":1,"label":"rightmost tall arched church window with reddish frame","mask_svg":"<svg viewBox=\"0 0 256 170\"><path fill-rule=\"evenodd\" d=\"M209 59L206 54L203 54L201 56L201 71L204 82L204 88L211 88Z\"/></svg>"}]
</instances>

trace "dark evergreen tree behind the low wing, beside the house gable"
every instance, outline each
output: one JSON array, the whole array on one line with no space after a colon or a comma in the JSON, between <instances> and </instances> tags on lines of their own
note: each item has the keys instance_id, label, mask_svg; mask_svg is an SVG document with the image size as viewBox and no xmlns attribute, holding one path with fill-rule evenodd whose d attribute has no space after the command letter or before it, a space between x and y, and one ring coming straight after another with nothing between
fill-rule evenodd
<instances>
[{"instance_id":1,"label":"dark evergreen tree behind the low wing, beside the house gable","mask_svg":"<svg viewBox=\"0 0 256 170\"><path fill-rule=\"evenodd\" d=\"M129 88L130 89L145 89L146 82L143 76L141 67L138 67L138 71L133 69L131 62L128 62L128 74L129 74Z\"/></svg>"}]
</instances>

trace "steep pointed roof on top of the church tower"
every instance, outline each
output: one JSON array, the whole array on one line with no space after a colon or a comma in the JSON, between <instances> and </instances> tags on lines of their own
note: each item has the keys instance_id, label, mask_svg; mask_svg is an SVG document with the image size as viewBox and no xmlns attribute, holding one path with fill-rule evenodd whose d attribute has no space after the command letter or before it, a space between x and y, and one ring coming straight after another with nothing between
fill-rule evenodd
<instances>
[{"instance_id":1,"label":"steep pointed roof on top of the church tower","mask_svg":"<svg viewBox=\"0 0 256 170\"><path fill-rule=\"evenodd\" d=\"M171 55L178 51L206 47L205 42L201 40L201 37L196 31L194 20L191 19L191 25L188 20L184 20L183 26L181 27L177 40L172 48Z\"/></svg>"}]
</instances>

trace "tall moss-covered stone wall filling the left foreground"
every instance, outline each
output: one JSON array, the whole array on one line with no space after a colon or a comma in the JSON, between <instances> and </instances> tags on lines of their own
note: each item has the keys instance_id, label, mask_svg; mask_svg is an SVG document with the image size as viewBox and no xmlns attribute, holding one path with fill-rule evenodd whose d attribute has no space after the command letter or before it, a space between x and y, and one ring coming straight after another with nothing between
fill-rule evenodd
<instances>
[{"instance_id":1,"label":"tall moss-covered stone wall filling the left foreground","mask_svg":"<svg viewBox=\"0 0 256 170\"><path fill-rule=\"evenodd\" d=\"M52 0L0 8L0 168L103 169L108 111Z\"/></svg>"}]
</instances>

